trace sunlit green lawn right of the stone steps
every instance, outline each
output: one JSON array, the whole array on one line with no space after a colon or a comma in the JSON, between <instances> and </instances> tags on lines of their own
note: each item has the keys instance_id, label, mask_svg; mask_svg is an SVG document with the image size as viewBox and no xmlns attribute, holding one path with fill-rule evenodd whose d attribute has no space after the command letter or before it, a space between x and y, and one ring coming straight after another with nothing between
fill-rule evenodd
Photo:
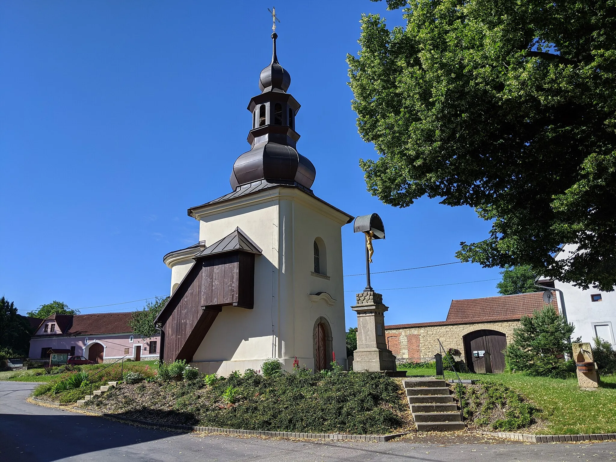
<instances>
[{"instance_id":1,"label":"sunlit green lawn right of the stone steps","mask_svg":"<svg viewBox=\"0 0 616 462\"><path fill-rule=\"evenodd\" d=\"M409 369L408 376L434 375L434 368ZM447 371L445 378L455 378ZM463 379L482 379L505 384L541 409L548 421L540 434L590 434L616 432L616 376L602 377L602 387L582 391L577 378L550 379L524 374L460 374Z\"/></svg>"}]
</instances>

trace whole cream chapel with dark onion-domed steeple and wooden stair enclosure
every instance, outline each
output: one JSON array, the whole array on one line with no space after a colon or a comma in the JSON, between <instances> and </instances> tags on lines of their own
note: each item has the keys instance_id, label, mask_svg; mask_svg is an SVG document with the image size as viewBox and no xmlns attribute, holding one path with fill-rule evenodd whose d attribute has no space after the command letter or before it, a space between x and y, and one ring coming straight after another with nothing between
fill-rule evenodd
<instances>
[{"instance_id":1,"label":"whole cream chapel with dark onion-domed steeple and wooden stair enclosure","mask_svg":"<svg viewBox=\"0 0 616 462\"><path fill-rule=\"evenodd\" d=\"M346 367L341 227L354 217L312 190L277 37L248 103L250 150L233 163L231 191L189 208L199 242L163 258L171 297L156 319L161 359L203 373L259 370L270 358L286 370L295 360L327 369L334 357Z\"/></svg>"}]
</instances>

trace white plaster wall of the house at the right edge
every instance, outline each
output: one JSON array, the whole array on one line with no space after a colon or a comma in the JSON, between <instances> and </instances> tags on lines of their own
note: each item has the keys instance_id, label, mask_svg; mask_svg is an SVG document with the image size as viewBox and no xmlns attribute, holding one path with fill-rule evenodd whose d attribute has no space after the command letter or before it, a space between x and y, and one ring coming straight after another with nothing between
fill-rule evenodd
<instances>
[{"instance_id":1,"label":"white plaster wall of the house at the right edge","mask_svg":"<svg viewBox=\"0 0 616 462\"><path fill-rule=\"evenodd\" d=\"M563 251L556 256L556 259L569 256L569 251L572 249L575 249L575 247L565 246ZM554 286L562 290L567 320L575 326L572 338L575 339L578 336L582 336L582 341L593 344L593 338L596 336L594 325L607 324L611 338L606 340L616 347L616 340L614 339L614 328L616 328L616 293L601 292L593 288L582 290L569 283L560 281L554 282ZM601 294L601 301L591 301L591 294Z\"/></svg>"}]
</instances>

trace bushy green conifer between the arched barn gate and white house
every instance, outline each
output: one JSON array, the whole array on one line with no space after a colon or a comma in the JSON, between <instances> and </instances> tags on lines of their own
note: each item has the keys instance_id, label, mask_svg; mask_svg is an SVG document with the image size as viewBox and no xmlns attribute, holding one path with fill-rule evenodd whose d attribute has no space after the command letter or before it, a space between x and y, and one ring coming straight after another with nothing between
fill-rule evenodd
<instances>
[{"instance_id":1,"label":"bushy green conifer between the arched barn gate and white house","mask_svg":"<svg viewBox=\"0 0 616 462\"><path fill-rule=\"evenodd\" d=\"M570 352L569 339L575 329L552 306L523 316L521 326L513 331L513 342L505 349L508 367L542 377L563 377L569 365L564 360Z\"/></svg>"}]
</instances>

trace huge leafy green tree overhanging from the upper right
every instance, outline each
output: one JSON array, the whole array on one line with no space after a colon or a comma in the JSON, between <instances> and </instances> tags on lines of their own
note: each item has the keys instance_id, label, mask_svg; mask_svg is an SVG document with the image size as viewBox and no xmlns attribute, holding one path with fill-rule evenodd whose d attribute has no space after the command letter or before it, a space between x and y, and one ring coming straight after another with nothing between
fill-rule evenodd
<instances>
[{"instance_id":1,"label":"huge leafy green tree overhanging from the upper right","mask_svg":"<svg viewBox=\"0 0 616 462\"><path fill-rule=\"evenodd\" d=\"M364 15L349 55L368 190L471 206L492 229L456 256L616 285L614 0L413 0ZM392 13L394 14L394 13ZM573 253L554 259L559 246Z\"/></svg>"}]
</instances>

